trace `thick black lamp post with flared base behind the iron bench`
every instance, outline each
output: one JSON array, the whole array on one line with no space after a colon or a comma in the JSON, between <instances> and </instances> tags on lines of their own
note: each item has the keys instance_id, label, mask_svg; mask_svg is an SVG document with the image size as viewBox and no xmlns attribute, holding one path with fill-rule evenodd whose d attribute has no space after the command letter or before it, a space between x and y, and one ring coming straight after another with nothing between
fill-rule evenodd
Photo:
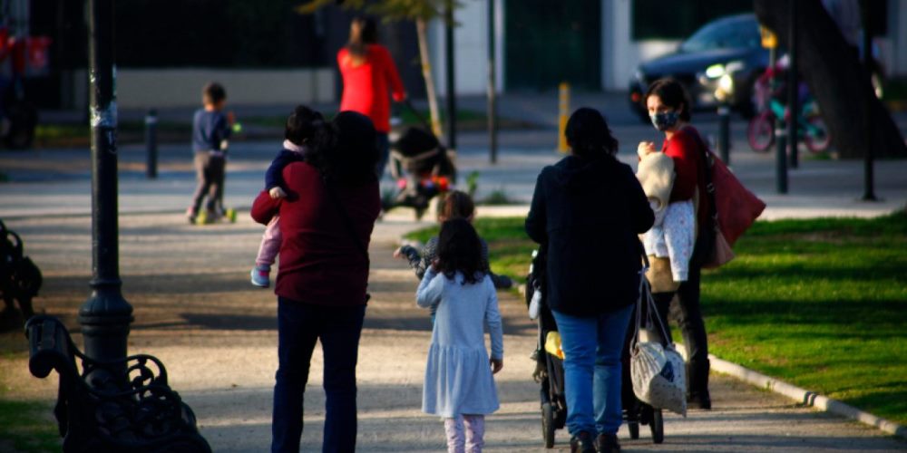
<instances>
[{"instance_id":1,"label":"thick black lamp post with flared base behind the iron bench","mask_svg":"<svg viewBox=\"0 0 907 453\"><path fill-rule=\"evenodd\" d=\"M89 0L88 52L93 278L90 283L92 295L79 309L79 323L82 324L86 355L96 361L115 361L126 357L132 305L123 299L120 291L112 0Z\"/></svg>"}]
</instances>

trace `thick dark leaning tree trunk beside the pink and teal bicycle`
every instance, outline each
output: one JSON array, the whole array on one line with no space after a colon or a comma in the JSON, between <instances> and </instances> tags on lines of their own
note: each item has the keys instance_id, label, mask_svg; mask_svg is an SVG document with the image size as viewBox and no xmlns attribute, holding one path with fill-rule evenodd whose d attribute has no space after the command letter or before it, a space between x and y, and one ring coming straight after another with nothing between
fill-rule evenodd
<instances>
[{"instance_id":1,"label":"thick dark leaning tree trunk beside the pink and teal bicycle","mask_svg":"<svg viewBox=\"0 0 907 453\"><path fill-rule=\"evenodd\" d=\"M775 31L784 46L790 41L790 1L754 0L759 22ZM877 157L907 156L901 131L875 97L859 55L851 50L822 3L799 0L797 8L797 70L818 101L841 157L863 157L867 142Z\"/></svg>"}]
</instances>

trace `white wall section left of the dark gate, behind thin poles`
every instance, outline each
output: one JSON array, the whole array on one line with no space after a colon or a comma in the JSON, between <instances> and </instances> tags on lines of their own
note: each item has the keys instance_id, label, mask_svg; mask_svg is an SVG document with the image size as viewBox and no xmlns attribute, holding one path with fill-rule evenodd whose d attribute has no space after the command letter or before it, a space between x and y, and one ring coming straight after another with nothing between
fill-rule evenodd
<instances>
[{"instance_id":1,"label":"white wall section left of the dark gate, behind thin poles","mask_svg":"<svg viewBox=\"0 0 907 453\"><path fill-rule=\"evenodd\" d=\"M494 2L495 87L503 89L503 0ZM466 0L454 12L457 27L453 29L454 91L457 95L478 95L488 91L488 3L486 0ZM439 96L447 92L447 61L444 58L444 22L429 24L428 43L432 57L432 72Z\"/></svg>"}]
</instances>

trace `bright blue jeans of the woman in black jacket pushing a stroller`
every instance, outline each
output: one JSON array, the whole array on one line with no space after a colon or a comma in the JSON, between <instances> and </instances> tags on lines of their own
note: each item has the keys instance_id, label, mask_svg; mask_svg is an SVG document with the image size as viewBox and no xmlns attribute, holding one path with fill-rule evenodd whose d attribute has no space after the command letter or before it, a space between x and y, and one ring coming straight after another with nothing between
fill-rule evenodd
<instances>
[{"instance_id":1,"label":"bright blue jeans of the woman in black jacket pushing a stroller","mask_svg":"<svg viewBox=\"0 0 907 453\"><path fill-rule=\"evenodd\" d=\"M578 317L551 312L561 333L564 352L564 396L567 429L616 434L620 428L620 352L633 304L617 312Z\"/></svg>"}]
</instances>

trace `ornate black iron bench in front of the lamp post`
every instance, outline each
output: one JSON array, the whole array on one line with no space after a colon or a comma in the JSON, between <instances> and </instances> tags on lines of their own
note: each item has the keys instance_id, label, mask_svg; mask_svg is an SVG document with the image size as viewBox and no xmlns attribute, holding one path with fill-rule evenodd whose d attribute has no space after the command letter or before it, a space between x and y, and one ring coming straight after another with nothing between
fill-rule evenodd
<instances>
[{"instance_id":1,"label":"ornate black iron bench in front of the lamp post","mask_svg":"<svg viewBox=\"0 0 907 453\"><path fill-rule=\"evenodd\" d=\"M167 384L158 359L144 354L120 361L86 357L66 327L38 315L25 324L29 371L60 375L54 415L64 452L210 452L195 414ZM76 367L82 361L82 372Z\"/></svg>"}]
</instances>

